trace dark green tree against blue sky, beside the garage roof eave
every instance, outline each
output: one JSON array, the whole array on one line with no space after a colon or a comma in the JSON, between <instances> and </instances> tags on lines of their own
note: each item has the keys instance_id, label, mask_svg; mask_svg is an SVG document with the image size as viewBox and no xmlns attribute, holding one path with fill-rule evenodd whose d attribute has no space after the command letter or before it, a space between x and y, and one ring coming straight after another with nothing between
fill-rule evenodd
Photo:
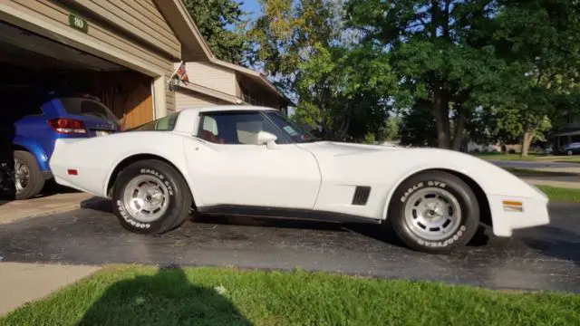
<instances>
[{"instance_id":1,"label":"dark green tree against blue sky, beside the garage roof eave","mask_svg":"<svg viewBox=\"0 0 580 326\"><path fill-rule=\"evenodd\" d=\"M218 59L243 64L250 43L244 32L246 14L234 0L185 0L186 8ZM228 30L234 25L237 30Z\"/></svg>"}]
</instances>

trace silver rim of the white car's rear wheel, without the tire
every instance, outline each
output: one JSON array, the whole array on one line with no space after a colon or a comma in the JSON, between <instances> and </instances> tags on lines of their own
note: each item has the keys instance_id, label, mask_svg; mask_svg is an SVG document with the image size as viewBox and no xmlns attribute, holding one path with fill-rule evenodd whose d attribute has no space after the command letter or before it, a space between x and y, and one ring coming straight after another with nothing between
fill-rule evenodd
<instances>
[{"instance_id":1,"label":"silver rim of the white car's rear wheel, without the tire","mask_svg":"<svg viewBox=\"0 0 580 326\"><path fill-rule=\"evenodd\" d=\"M125 209L134 219L150 223L158 220L168 209L168 188L157 177L134 177L123 193Z\"/></svg>"}]
</instances>

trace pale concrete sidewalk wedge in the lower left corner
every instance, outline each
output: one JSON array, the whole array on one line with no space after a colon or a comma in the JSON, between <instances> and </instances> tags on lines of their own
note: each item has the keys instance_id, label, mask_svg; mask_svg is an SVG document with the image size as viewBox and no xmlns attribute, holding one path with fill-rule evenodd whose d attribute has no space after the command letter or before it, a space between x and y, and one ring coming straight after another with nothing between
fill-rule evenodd
<instances>
[{"instance_id":1,"label":"pale concrete sidewalk wedge in the lower left corner","mask_svg":"<svg viewBox=\"0 0 580 326\"><path fill-rule=\"evenodd\" d=\"M0 315L42 299L99 270L97 266L0 262Z\"/></svg>"}]
</instances>

